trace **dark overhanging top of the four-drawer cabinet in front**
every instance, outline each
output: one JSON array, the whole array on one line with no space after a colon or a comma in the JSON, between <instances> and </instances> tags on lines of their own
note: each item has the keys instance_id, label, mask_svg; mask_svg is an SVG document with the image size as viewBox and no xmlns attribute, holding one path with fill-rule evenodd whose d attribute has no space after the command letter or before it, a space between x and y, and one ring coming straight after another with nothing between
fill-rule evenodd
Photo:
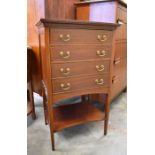
<instances>
[{"instance_id":1,"label":"dark overhanging top of the four-drawer cabinet in front","mask_svg":"<svg viewBox=\"0 0 155 155\"><path fill-rule=\"evenodd\" d=\"M79 28L96 28L96 29L106 29L109 28L111 30L116 29L119 24L114 23L104 23L104 22L90 22L90 21L79 21L79 20L55 20L55 19L40 19L36 24L37 27L79 27Z\"/></svg>"}]
</instances>

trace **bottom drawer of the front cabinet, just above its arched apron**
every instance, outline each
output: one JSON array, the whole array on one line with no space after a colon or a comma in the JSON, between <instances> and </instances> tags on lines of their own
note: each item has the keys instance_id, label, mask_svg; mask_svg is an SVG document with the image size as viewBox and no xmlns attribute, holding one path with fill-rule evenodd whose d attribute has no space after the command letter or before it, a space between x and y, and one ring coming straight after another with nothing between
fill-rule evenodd
<instances>
[{"instance_id":1,"label":"bottom drawer of the front cabinet, just above its arched apron","mask_svg":"<svg viewBox=\"0 0 155 155\"><path fill-rule=\"evenodd\" d=\"M84 76L53 80L53 93L65 93L76 90L104 88L109 86L108 74L98 76Z\"/></svg>"}]
</instances>

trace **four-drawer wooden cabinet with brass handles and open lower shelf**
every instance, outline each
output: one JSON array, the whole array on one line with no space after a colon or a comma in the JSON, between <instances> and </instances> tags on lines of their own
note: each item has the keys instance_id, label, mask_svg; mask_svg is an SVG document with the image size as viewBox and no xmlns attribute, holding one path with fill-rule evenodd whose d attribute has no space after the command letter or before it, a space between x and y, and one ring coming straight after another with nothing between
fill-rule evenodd
<instances>
[{"instance_id":1,"label":"four-drawer wooden cabinet with brass handles and open lower shelf","mask_svg":"<svg viewBox=\"0 0 155 155\"><path fill-rule=\"evenodd\" d=\"M54 133L68 127L104 120L104 135L107 134L114 32L117 26L75 20L40 19L37 23L44 106L52 150L55 150ZM106 94L104 112L86 100L55 106L70 97L98 93Z\"/></svg>"}]
</instances>

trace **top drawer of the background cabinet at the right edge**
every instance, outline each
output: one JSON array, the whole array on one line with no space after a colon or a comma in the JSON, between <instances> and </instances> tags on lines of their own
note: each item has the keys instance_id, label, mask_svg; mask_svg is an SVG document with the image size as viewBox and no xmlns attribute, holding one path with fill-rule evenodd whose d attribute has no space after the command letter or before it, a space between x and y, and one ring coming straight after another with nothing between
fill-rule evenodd
<instances>
[{"instance_id":1,"label":"top drawer of the background cabinet at the right edge","mask_svg":"<svg viewBox=\"0 0 155 155\"><path fill-rule=\"evenodd\" d=\"M121 5L118 5L117 11L117 19L123 23L127 23L127 9Z\"/></svg>"}]
</instances>

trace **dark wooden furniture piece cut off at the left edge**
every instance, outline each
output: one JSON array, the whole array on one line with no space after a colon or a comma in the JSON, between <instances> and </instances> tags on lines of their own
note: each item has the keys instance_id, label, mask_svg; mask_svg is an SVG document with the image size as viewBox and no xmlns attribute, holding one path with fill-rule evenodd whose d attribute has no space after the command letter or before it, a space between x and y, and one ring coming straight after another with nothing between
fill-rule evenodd
<instances>
[{"instance_id":1,"label":"dark wooden furniture piece cut off at the left edge","mask_svg":"<svg viewBox=\"0 0 155 155\"><path fill-rule=\"evenodd\" d=\"M27 115L31 114L32 119L36 119L34 98L33 98L33 85L32 85L32 49L27 48Z\"/></svg>"}]
</instances>

